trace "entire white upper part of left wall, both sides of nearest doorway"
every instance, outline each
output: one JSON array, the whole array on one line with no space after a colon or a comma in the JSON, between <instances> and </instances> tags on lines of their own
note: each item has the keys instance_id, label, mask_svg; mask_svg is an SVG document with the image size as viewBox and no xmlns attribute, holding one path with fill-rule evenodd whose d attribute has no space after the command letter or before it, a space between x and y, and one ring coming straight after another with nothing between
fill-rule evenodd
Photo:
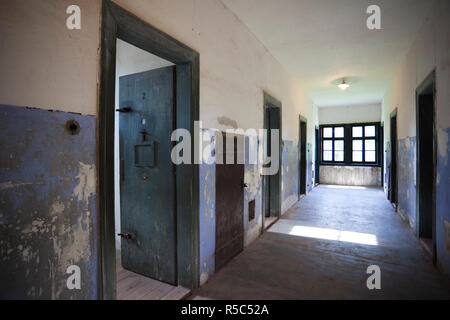
<instances>
[{"instance_id":1,"label":"entire white upper part of left wall, both sides of nearest doorway","mask_svg":"<svg viewBox=\"0 0 450 320\"><path fill-rule=\"evenodd\" d=\"M263 90L283 103L284 139L297 140L294 114L312 119L303 89L221 1L114 2L200 53L204 127L225 129L218 118L226 117L262 128ZM66 28L72 4L81 8L81 30ZM100 21L101 0L2 0L1 103L96 115Z\"/></svg>"}]
</instances>

